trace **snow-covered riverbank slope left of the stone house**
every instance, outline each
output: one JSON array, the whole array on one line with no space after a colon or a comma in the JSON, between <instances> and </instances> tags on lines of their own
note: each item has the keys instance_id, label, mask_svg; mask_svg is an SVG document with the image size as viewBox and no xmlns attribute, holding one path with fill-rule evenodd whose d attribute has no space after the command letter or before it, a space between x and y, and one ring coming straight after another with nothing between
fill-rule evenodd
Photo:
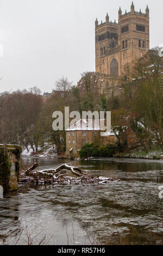
<instances>
[{"instance_id":1,"label":"snow-covered riverbank slope left of the stone house","mask_svg":"<svg viewBox=\"0 0 163 256\"><path fill-rule=\"evenodd\" d=\"M48 143L45 143L45 146L43 148L38 147L37 153L33 153L33 149L30 146L28 146L28 150L27 148L24 147L22 148L22 156L37 156L37 157L57 156L56 147L53 148L53 145L49 145Z\"/></svg>"}]
</instances>

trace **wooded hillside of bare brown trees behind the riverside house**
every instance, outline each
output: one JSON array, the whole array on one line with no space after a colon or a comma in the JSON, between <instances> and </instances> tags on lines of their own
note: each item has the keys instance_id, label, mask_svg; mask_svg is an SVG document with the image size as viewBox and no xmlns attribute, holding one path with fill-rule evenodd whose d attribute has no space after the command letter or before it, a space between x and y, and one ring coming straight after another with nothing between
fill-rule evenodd
<instances>
[{"instance_id":1,"label":"wooded hillside of bare brown trees behind the riverside house","mask_svg":"<svg viewBox=\"0 0 163 256\"><path fill-rule=\"evenodd\" d=\"M135 148L146 153L159 148L163 153L162 67L159 49L150 50L133 65L125 67L123 96L99 95L91 87L89 72L82 74L85 90L72 86L67 78L55 83L55 94L43 100L40 89L4 92L0 95L0 138L2 143L20 144L33 153L52 145L58 154L65 152L65 131L52 129L54 111L65 106L71 111L111 111L112 131L118 152L131 149L126 143L126 127L136 136ZM118 132L117 132L118 131ZM49 147L49 146L48 146Z\"/></svg>"}]
</instances>

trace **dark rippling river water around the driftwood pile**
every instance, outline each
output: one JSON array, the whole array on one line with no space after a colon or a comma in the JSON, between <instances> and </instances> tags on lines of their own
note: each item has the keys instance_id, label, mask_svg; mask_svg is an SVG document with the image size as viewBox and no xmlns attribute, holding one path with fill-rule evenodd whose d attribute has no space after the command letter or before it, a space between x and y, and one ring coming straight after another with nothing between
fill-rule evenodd
<instances>
[{"instance_id":1,"label":"dark rippling river water around the driftwood pile","mask_svg":"<svg viewBox=\"0 0 163 256\"><path fill-rule=\"evenodd\" d=\"M56 158L23 157L38 169ZM0 244L143 245L163 243L163 161L109 159L68 161L87 172L121 179L99 185L20 185L0 199ZM94 239L94 241L93 241Z\"/></svg>"}]
</instances>

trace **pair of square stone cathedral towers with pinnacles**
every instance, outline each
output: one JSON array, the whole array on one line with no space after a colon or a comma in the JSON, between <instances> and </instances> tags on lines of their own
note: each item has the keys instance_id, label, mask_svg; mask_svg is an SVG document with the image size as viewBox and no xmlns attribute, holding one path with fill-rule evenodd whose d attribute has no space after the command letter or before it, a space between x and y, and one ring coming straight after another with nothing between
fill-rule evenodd
<instances>
[{"instance_id":1,"label":"pair of square stone cathedral towers with pinnacles","mask_svg":"<svg viewBox=\"0 0 163 256\"><path fill-rule=\"evenodd\" d=\"M149 9L146 13L131 9L122 15L118 11L118 24L106 21L95 22L96 72L114 77L123 75L125 64L142 57L149 50Z\"/></svg>"}]
</instances>

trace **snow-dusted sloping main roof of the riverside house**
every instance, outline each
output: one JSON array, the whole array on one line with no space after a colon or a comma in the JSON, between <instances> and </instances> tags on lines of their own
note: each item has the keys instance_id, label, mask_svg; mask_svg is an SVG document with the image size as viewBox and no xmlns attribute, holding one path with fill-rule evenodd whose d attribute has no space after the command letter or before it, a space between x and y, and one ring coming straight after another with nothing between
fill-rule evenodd
<instances>
[{"instance_id":1,"label":"snow-dusted sloping main roof of the riverside house","mask_svg":"<svg viewBox=\"0 0 163 256\"><path fill-rule=\"evenodd\" d=\"M80 119L70 126L66 131L100 131L100 122L104 119Z\"/></svg>"}]
</instances>

